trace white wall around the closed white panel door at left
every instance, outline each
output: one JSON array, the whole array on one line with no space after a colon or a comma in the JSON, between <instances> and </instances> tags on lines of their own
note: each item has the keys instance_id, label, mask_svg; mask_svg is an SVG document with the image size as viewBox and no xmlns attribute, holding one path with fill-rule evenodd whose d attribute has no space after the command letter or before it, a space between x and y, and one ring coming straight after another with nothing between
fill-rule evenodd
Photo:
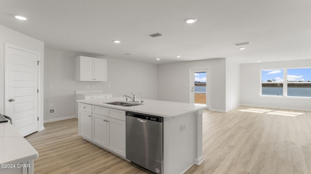
<instances>
[{"instance_id":1,"label":"white wall around the closed white panel door at left","mask_svg":"<svg viewBox=\"0 0 311 174\"><path fill-rule=\"evenodd\" d=\"M44 63L44 43L0 25L0 113L4 113L4 43L26 48L40 53L41 63ZM41 84L40 91L43 93L43 66L40 67ZM40 95L40 94L39 94ZM43 127L43 95L39 98L39 130Z\"/></svg>"}]
</instances>

